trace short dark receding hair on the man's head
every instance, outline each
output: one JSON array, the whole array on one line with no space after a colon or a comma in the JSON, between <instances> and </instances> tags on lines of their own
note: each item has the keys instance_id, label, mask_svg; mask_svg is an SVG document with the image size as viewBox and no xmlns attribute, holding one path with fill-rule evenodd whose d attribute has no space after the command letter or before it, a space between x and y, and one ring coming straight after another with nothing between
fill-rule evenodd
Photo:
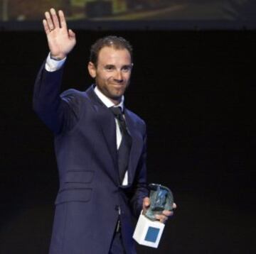
<instances>
[{"instance_id":1,"label":"short dark receding hair on the man's head","mask_svg":"<svg viewBox=\"0 0 256 254\"><path fill-rule=\"evenodd\" d=\"M129 41L120 36L108 35L98 39L90 48L90 62L92 62L95 66L97 66L100 50L104 47L112 47L117 50L127 49L132 60L132 45L129 43Z\"/></svg>"}]
</instances>

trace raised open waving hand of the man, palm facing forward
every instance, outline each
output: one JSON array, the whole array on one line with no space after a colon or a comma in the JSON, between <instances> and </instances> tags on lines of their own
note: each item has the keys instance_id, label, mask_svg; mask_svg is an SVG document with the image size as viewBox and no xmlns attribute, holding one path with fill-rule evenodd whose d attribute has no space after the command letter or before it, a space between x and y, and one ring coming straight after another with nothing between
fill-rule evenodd
<instances>
[{"instance_id":1,"label":"raised open waving hand of the man, palm facing forward","mask_svg":"<svg viewBox=\"0 0 256 254\"><path fill-rule=\"evenodd\" d=\"M46 11L43 28L46 31L50 56L56 60L64 59L75 47L75 33L67 28L63 11Z\"/></svg>"}]
</instances>

